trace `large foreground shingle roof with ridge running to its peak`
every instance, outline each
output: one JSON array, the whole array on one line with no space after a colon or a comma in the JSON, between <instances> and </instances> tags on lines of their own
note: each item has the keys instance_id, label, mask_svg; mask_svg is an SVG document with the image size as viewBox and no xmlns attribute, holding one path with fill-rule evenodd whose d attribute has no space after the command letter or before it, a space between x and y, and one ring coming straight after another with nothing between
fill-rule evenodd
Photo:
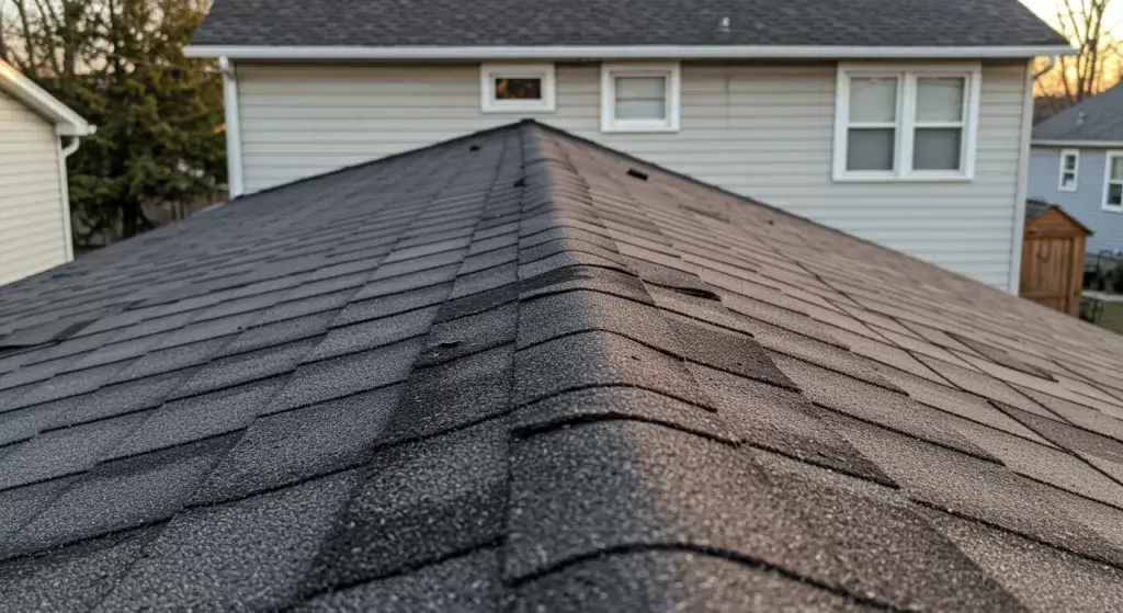
<instances>
[{"instance_id":1,"label":"large foreground shingle roof with ridge running to its peak","mask_svg":"<svg viewBox=\"0 0 1123 613\"><path fill-rule=\"evenodd\" d=\"M11 610L1123 600L1123 339L535 123L2 292Z\"/></svg>"}]
</instances>

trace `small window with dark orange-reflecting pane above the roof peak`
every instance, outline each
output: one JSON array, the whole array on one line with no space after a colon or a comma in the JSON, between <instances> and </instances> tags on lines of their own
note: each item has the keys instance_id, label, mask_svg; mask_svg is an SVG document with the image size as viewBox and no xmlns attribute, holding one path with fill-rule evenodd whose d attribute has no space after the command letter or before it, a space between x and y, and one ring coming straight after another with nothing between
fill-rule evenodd
<instances>
[{"instance_id":1,"label":"small window with dark orange-reflecting pane above the roof peak","mask_svg":"<svg viewBox=\"0 0 1123 613\"><path fill-rule=\"evenodd\" d=\"M484 64L480 68L483 112L553 112L554 64Z\"/></svg>"}]
</instances>

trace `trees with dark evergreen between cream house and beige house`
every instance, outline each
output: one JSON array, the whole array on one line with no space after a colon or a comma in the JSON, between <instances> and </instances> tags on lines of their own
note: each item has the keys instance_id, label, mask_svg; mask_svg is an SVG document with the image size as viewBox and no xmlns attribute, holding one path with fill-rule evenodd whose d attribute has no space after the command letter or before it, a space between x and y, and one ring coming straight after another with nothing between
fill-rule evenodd
<instances>
[{"instance_id":1,"label":"trees with dark evergreen between cream house and beige house","mask_svg":"<svg viewBox=\"0 0 1123 613\"><path fill-rule=\"evenodd\" d=\"M153 225L145 204L226 181L221 76L183 56L209 2L10 1L4 58L98 126L67 161L75 231L134 236Z\"/></svg>"}]
</instances>

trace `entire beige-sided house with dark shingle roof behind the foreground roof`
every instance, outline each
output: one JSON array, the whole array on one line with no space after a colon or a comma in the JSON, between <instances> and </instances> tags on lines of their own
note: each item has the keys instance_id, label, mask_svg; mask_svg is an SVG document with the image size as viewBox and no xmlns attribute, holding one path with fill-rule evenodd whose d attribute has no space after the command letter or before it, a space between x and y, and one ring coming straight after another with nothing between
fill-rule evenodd
<instances>
[{"instance_id":1,"label":"entire beige-sided house with dark shingle roof behind the foreground roof","mask_svg":"<svg viewBox=\"0 0 1123 613\"><path fill-rule=\"evenodd\" d=\"M217 0L231 191L512 118L1016 290L1031 60L1017 0Z\"/></svg>"}]
</instances>

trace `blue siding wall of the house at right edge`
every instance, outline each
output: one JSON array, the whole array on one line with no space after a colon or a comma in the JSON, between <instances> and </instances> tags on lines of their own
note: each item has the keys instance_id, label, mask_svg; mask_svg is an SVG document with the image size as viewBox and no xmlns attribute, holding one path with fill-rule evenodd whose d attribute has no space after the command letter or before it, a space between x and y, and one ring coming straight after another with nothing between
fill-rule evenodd
<instances>
[{"instance_id":1,"label":"blue siding wall of the house at right edge","mask_svg":"<svg viewBox=\"0 0 1123 613\"><path fill-rule=\"evenodd\" d=\"M1060 148L1034 147L1030 158L1030 198L1060 204L1065 212L1095 232L1088 237L1088 253L1123 251L1123 213L1105 211L1104 172L1106 149L1080 149L1076 191L1057 189L1060 179Z\"/></svg>"}]
</instances>

